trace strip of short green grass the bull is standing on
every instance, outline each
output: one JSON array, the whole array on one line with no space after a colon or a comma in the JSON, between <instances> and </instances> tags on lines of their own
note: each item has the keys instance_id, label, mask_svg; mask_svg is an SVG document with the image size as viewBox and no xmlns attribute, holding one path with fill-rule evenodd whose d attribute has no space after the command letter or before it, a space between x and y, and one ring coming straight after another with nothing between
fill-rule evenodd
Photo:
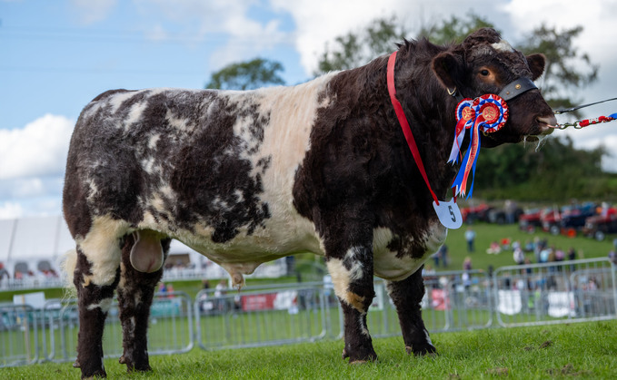
<instances>
[{"instance_id":1,"label":"strip of short green grass the bull is standing on","mask_svg":"<svg viewBox=\"0 0 617 380\"><path fill-rule=\"evenodd\" d=\"M153 356L153 372L125 374L105 360L110 378L615 378L617 320L560 326L486 329L433 334L440 355L407 356L401 337L373 339L375 363L348 365L343 342L326 340L290 346L245 348ZM78 378L70 363L0 369L6 379Z\"/></svg>"}]
</instances>

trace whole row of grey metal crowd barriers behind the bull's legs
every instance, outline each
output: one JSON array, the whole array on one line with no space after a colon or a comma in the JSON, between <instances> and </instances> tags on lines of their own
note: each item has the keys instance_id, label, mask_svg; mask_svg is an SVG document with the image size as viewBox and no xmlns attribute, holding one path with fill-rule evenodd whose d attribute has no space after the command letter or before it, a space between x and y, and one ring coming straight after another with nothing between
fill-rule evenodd
<instances>
[{"instance_id":1,"label":"whole row of grey metal crowd barriers behind the bull's legs","mask_svg":"<svg viewBox=\"0 0 617 380\"><path fill-rule=\"evenodd\" d=\"M430 332L492 326L530 326L617 318L615 266L608 259L438 272L424 277L423 319ZM386 283L375 281L367 322L373 337L400 335ZM496 323L495 323L496 320ZM0 304L0 367L75 360L75 300L39 309ZM331 283L246 287L219 294L202 290L157 294L148 352L190 351L312 342L343 336L343 313ZM106 357L122 355L117 304L105 321Z\"/></svg>"}]
</instances>

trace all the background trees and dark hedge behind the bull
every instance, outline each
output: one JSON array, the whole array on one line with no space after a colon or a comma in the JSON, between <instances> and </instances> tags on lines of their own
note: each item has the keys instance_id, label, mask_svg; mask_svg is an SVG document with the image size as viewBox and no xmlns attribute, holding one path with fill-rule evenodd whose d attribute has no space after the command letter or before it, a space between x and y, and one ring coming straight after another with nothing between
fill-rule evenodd
<instances>
[{"instance_id":1,"label":"all the background trees and dark hedge behind the bull","mask_svg":"<svg viewBox=\"0 0 617 380\"><path fill-rule=\"evenodd\" d=\"M473 14L452 16L423 25L417 38L426 37L433 44L462 42L481 27L493 27L489 20ZM514 47L524 54L541 52L547 63L539 87L553 109L572 107L581 100L572 94L597 80L598 64L572 44L582 33L582 26L557 30L544 24L532 29ZM319 56L314 76L346 70L391 53L395 44L412 35L395 17L378 18L365 27L350 31L326 44ZM264 85L284 84L281 63L263 58L232 63L213 73L206 88L254 89ZM572 112L572 118L581 115ZM480 154L474 184L474 198L485 200L617 201L617 173L602 171L602 158L609 153L604 147L593 150L574 148L572 139L559 133L540 143L505 144Z\"/></svg>"}]
</instances>

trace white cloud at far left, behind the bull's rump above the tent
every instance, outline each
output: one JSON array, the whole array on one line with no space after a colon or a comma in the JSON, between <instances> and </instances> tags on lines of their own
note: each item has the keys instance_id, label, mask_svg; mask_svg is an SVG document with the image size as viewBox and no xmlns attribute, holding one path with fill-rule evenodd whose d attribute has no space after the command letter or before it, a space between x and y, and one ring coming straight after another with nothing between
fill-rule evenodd
<instances>
[{"instance_id":1,"label":"white cloud at far left, behind the bull's rump above the tent","mask_svg":"<svg viewBox=\"0 0 617 380\"><path fill-rule=\"evenodd\" d=\"M0 130L0 180L63 173L74 125L46 114L23 129Z\"/></svg>"}]
</instances>

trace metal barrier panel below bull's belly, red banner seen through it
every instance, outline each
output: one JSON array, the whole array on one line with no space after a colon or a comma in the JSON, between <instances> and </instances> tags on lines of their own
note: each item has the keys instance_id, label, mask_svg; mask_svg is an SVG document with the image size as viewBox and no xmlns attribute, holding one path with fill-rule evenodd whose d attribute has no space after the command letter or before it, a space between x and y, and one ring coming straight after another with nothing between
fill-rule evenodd
<instances>
[{"instance_id":1,"label":"metal barrier panel below bull's belly, red banner seen through it","mask_svg":"<svg viewBox=\"0 0 617 380\"><path fill-rule=\"evenodd\" d=\"M196 340L204 349L274 346L314 341L327 331L329 312L320 285L246 288L195 300Z\"/></svg>"}]
</instances>

